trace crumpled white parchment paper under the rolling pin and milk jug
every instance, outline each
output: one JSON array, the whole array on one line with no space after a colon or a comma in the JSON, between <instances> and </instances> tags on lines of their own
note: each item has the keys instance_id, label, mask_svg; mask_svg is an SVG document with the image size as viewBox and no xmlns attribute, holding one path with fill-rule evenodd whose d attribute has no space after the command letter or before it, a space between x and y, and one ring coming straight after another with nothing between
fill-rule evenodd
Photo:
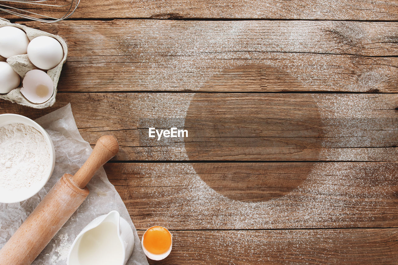
<instances>
[{"instance_id":1,"label":"crumpled white parchment paper under the rolling pin and milk jug","mask_svg":"<svg viewBox=\"0 0 398 265\"><path fill-rule=\"evenodd\" d=\"M73 175L92 152L90 144L80 136L70 104L37 119L36 122L49 133L53 140L56 153L54 172L45 187L30 199L21 203L0 203L0 247L4 246L58 179L64 173ZM97 171L87 187L90 194L86 200L32 264L66 264L70 246L80 231L94 218L107 214L111 210L117 210L133 228L134 249L127 264L148 264L137 230L115 187L108 181L103 168Z\"/></svg>"}]
</instances>

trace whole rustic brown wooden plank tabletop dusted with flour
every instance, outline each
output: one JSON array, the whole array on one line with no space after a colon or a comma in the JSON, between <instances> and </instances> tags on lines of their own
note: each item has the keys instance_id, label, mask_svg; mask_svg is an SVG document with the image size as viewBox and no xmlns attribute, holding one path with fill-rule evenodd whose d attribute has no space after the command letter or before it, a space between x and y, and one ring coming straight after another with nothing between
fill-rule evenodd
<instances>
[{"instance_id":1,"label":"whole rustic brown wooden plank tabletop dusted with flour","mask_svg":"<svg viewBox=\"0 0 398 265\"><path fill-rule=\"evenodd\" d=\"M7 16L5 16L7 17ZM7 17L8 18L8 17ZM105 165L152 264L398 264L398 0L82 0L57 102ZM148 127L188 138L148 138Z\"/></svg>"}]
</instances>

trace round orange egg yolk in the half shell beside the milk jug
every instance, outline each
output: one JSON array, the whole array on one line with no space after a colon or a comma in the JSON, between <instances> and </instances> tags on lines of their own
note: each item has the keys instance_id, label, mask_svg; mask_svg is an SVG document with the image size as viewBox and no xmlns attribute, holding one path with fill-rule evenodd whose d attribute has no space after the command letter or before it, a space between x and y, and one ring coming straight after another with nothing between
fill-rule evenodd
<instances>
[{"instance_id":1,"label":"round orange egg yolk in the half shell beside the milk jug","mask_svg":"<svg viewBox=\"0 0 398 265\"><path fill-rule=\"evenodd\" d=\"M166 228L154 226L145 232L142 244L152 254L163 254L172 245L172 235Z\"/></svg>"}]
</instances>

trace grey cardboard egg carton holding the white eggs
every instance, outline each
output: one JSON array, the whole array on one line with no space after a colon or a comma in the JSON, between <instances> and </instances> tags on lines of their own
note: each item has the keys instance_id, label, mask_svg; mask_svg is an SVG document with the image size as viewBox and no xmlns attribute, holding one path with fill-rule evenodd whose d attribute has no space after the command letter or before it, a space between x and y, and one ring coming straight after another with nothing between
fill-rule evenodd
<instances>
[{"instance_id":1,"label":"grey cardboard egg carton holding the white eggs","mask_svg":"<svg viewBox=\"0 0 398 265\"><path fill-rule=\"evenodd\" d=\"M57 66L55 66L50 70L47 70L47 74L51 77L51 80L53 80L54 84L54 94L51 96L51 98L48 101L41 104L31 103L21 94L20 91L21 85L18 88L11 90L8 94L0 94L0 98L18 103L20 105L33 107L36 109L44 109L46 107L51 107L55 103L55 96L57 95L57 84L59 76L61 74L62 65L66 61L66 55L68 54L68 47L66 46L65 41L57 35L53 35L38 29L32 29L24 25L14 24L8 21L7 19L0 18L0 27L4 26L13 26L22 29L23 31L25 31L27 37L29 38L29 41L31 41L35 37L49 36L55 38L62 45L62 48L64 49L64 58L62 58L62 61ZM30 62L29 58L27 57L27 54L15 55L9 58L4 58L0 56L0 61L8 62L8 64L10 64L10 66L14 69L15 72L17 72L17 74L21 76L22 79L25 77L25 74L28 71L33 69L39 69Z\"/></svg>"}]
</instances>

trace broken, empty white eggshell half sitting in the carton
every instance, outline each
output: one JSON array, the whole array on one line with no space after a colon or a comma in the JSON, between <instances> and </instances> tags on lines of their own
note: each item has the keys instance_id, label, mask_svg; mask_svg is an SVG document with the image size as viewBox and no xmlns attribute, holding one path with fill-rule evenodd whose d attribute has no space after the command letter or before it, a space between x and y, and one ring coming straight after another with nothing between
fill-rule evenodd
<instances>
[{"instance_id":1,"label":"broken, empty white eggshell half sitting in the carton","mask_svg":"<svg viewBox=\"0 0 398 265\"><path fill-rule=\"evenodd\" d=\"M22 80L21 94L32 103L44 103L54 94L53 80L42 70L30 70Z\"/></svg>"}]
</instances>

